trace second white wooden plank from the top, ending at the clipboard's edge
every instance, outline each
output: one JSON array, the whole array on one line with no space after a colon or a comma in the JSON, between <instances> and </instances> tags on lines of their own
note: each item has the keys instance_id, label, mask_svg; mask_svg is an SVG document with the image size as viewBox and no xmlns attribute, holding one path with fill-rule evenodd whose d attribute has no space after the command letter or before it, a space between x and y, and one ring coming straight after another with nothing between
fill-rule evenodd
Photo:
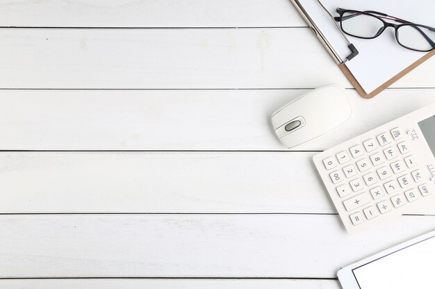
<instances>
[{"instance_id":1,"label":"second white wooden plank from the top, ending at the clipboard's edge","mask_svg":"<svg viewBox=\"0 0 435 289\"><path fill-rule=\"evenodd\" d=\"M0 38L0 88L350 87L309 28L0 29Z\"/></svg>"}]
</instances>

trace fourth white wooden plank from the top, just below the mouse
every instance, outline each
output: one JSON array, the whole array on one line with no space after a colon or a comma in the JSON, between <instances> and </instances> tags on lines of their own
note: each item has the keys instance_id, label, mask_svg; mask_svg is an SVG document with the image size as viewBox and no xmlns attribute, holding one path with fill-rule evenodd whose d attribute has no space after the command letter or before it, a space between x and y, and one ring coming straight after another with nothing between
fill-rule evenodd
<instances>
[{"instance_id":1,"label":"fourth white wooden plank from the top, just below the mouse","mask_svg":"<svg viewBox=\"0 0 435 289\"><path fill-rule=\"evenodd\" d=\"M334 213L312 156L3 152L0 213Z\"/></svg>"}]
</instances>

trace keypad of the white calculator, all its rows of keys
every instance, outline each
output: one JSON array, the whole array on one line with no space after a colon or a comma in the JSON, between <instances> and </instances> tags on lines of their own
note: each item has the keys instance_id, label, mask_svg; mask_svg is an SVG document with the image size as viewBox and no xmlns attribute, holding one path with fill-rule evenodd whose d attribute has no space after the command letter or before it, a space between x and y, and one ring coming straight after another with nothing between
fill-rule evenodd
<instances>
[{"instance_id":1,"label":"keypad of the white calculator, all its rows of keys","mask_svg":"<svg viewBox=\"0 0 435 289\"><path fill-rule=\"evenodd\" d=\"M432 194L402 137L396 127L323 160L354 226Z\"/></svg>"}]
</instances>

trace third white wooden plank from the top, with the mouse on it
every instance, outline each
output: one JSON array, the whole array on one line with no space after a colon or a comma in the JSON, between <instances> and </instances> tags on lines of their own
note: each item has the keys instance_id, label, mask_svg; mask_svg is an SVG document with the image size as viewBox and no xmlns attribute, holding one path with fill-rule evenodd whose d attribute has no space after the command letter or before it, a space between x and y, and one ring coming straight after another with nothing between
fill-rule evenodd
<instances>
[{"instance_id":1,"label":"third white wooden plank from the top, with the mouse on it","mask_svg":"<svg viewBox=\"0 0 435 289\"><path fill-rule=\"evenodd\" d=\"M3 90L3 150L284 151L270 115L309 90ZM340 129L293 150L320 151L434 102L434 89L362 99Z\"/></svg>"}]
</instances>

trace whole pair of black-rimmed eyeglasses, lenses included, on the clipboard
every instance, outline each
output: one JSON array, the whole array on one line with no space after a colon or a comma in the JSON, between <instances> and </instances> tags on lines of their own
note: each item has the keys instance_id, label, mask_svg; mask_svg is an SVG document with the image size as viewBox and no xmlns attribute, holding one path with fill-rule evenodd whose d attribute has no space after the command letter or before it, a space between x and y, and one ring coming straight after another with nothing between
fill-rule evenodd
<instances>
[{"instance_id":1,"label":"whole pair of black-rimmed eyeglasses, lenses included, on the clipboard","mask_svg":"<svg viewBox=\"0 0 435 289\"><path fill-rule=\"evenodd\" d=\"M413 51L427 52L435 48L435 28L408 22L404 19L376 11L356 11L337 8L341 30L356 38L373 39L381 35L387 27L395 29L395 38L402 47ZM393 20L401 24L386 22Z\"/></svg>"}]
</instances>

